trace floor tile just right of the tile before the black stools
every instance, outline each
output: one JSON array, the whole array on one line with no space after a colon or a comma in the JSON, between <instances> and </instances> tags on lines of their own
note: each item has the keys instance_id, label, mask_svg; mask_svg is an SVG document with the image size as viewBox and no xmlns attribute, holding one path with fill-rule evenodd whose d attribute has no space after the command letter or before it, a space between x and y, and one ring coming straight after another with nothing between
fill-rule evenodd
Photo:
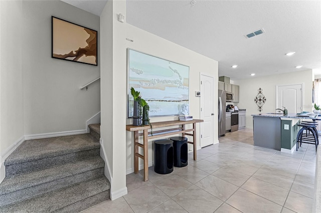
<instances>
[{"instance_id":1,"label":"floor tile just right of the tile before the black stools","mask_svg":"<svg viewBox=\"0 0 321 213\"><path fill-rule=\"evenodd\" d=\"M195 185L203 188L223 201L229 198L239 188L238 186L213 175L205 177L195 183Z\"/></svg>"}]
</instances>

